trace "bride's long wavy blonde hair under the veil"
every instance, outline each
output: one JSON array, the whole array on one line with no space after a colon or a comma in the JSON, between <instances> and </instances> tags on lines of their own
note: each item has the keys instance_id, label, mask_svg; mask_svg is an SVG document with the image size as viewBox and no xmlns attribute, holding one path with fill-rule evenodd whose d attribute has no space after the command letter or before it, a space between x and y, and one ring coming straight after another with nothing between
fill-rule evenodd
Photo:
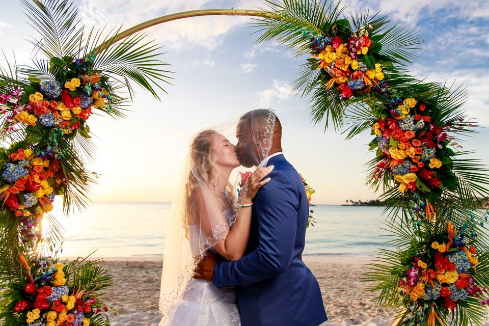
<instances>
[{"instance_id":1,"label":"bride's long wavy blonde hair under the veil","mask_svg":"<svg viewBox=\"0 0 489 326\"><path fill-rule=\"evenodd\" d=\"M195 213L195 194L197 187L199 187L199 181L197 180L196 175L209 187L211 187L211 182L212 180L215 180L217 175L217 170L215 168L215 162L212 155L212 136L216 133L218 132L210 129L199 132L192 140L189 148L188 159L191 169L188 171L185 184L183 198L184 216L182 219L183 228L187 238L188 226L191 225L193 221L198 221L198 219L193 219ZM231 183L228 182L226 185L226 190L230 195L231 203L234 203L234 188Z\"/></svg>"}]
</instances>

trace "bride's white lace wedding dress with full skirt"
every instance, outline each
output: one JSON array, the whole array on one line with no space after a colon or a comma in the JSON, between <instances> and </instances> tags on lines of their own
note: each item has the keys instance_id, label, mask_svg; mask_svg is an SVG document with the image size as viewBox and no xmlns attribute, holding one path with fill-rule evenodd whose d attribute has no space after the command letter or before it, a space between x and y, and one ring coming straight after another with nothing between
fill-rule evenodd
<instances>
[{"instance_id":1,"label":"bride's white lace wedding dress with full skirt","mask_svg":"<svg viewBox=\"0 0 489 326\"><path fill-rule=\"evenodd\" d=\"M229 221L234 211L227 209ZM188 227L192 254L200 254L201 231L197 224ZM179 300L161 319L159 326L238 326L241 325L233 288L216 287L212 282L192 279Z\"/></svg>"}]
</instances>

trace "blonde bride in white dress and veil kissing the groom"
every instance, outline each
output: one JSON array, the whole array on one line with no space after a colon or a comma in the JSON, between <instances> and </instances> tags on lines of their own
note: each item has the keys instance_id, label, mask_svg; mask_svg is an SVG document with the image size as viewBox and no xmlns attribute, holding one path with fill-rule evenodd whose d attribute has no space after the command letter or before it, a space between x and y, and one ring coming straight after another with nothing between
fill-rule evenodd
<instances>
[{"instance_id":1,"label":"blonde bride in white dress and veil kissing the groom","mask_svg":"<svg viewBox=\"0 0 489 326\"><path fill-rule=\"evenodd\" d=\"M252 200L270 180L263 178L273 166L256 169L236 198L229 179L240 163L223 134L199 132L187 157L182 198L172 205L167 229L159 304L164 317L159 326L240 325L234 289L219 289L192 275L207 250L227 260L244 255Z\"/></svg>"}]
</instances>

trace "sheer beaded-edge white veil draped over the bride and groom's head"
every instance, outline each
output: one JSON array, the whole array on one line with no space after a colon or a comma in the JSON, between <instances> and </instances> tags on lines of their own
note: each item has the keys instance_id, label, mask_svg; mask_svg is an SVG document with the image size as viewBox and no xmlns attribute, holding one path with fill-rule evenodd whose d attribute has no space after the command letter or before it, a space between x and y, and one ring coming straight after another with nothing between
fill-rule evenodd
<instances>
[{"instance_id":1,"label":"sheer beaded-edge white veil draped over the bride and groom's head","mask_svg":"<svg viewBox=\"0 0 489 326\"><path fill-rule=\"evenodd\" d=\"M226 239L247 188L246 182L240 184L239 172L265 164L275 121L273 111L254 110L235 122L196 132L190 141L167 225L159 300L162 313L169 312L182 298L205 252ZM238 141L237 156L230 154ZM217 166L232 170L224 184L217 182L220 178L216 174L226 169L218 171Z\"/></svg>"}]
</instances>

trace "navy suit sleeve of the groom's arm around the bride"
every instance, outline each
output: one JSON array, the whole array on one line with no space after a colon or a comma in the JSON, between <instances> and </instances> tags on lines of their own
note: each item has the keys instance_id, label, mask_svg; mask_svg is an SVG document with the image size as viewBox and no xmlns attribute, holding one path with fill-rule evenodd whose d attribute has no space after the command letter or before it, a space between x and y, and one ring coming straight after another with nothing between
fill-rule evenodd
<instances>
[{"instance_id":1,"label":"navy suit sleeve of the groom's arm around the bride","mask_svg":"<svg viewBox=\"0 0 489 326\"><path fill-rule=\"evenodd\" d=\"M282 171L257 193L253 205L258 219L258 246L236 261L220 261L212 282L218 287L246 285L283 273L289 266L297 228L298 194Z\"/></svg>"}]
</instances>

